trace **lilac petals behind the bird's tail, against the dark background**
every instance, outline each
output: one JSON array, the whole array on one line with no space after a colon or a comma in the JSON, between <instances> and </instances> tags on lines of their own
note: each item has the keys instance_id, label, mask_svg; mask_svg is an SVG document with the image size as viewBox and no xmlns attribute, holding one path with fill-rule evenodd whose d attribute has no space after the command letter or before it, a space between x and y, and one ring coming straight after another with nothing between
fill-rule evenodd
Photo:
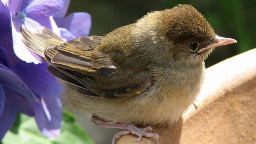
<instances>
[{"instance_id":1,"label":"lilac petals behind the bird's tail, against the dark background","mask_svg":"<svg viewBox=\"0 0 256 144\"><path fill-rule=\"evenodd\" d=\"M70 0L65 0L64 7L54 15L54 20L60 27L61 37L71 40L75 37L87 37L91 27L91 16L86 12L67 14ZM70 33L71 32L71 33Z\"/></svg>"}]
</instances>

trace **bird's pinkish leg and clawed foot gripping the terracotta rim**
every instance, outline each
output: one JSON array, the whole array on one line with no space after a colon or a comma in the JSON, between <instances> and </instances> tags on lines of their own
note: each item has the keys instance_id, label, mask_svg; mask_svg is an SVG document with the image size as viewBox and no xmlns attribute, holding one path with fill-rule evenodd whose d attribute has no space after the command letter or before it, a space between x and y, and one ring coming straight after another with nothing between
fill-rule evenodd
<instances>
[{"instance_id":1,"label":"bird's pinkish leg and clawed foot gripping the terracotta rim","mask_svg":"<svg viewBox=\"0 0 256 144\"><path fill-rule=\"evenodd\" d=\"M111 127L111 128L118 128L118 129L124 129L122 131L116 132L116 134L113 137L112 144L114 144L115 139L120 138L122 135L128 135L130 133L139 136L136 140L133 140L133 142L141 141L142 136L145 137L154 137L154 139L159 138L159 135L157 133L149 133L146 132L147 130L152 130L152 127L148 126L145 128L138 128L134 124L125 124L125 123L113 123L111 121L105 121L103 119L98 118L97 116L92 116L91 121L93 121L97 126L99 127Z\"/></svg>"}]
</instances>

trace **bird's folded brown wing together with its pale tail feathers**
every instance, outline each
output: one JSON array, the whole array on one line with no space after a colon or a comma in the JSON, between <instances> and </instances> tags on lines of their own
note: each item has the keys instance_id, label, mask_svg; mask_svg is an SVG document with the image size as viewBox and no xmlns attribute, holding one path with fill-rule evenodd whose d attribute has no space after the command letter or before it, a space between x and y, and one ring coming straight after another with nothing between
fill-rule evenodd
<instances>
[{"instance_id":1,"label":"bird's folded brown wing together with its pale tail feathers","mask_svg":"<svg viewBox=\"0 0 256 144\"><path fill-rule=\"evenodd\" d=\"M122 33L124 26L116 29ZM55 77L78 87L78 92L91 97L107 100L126 100L145 91L153 82L147 66L136 68L136 61L130 60L129 49L120 51L117 47L129 48L129 35L111 32L113 39L91 36L75 38L63 43L48 29L41 33L31 33L22 29L24 43L36 49L51 65L48 71ZM116 39L116 40L114 40ZM120 39L124 43L120 43ZM103 41L103 42L102 42ZM112 50L111 50L112 49ZM132 69L133 68L133 69Z\"/></svg>"}]
</instances>

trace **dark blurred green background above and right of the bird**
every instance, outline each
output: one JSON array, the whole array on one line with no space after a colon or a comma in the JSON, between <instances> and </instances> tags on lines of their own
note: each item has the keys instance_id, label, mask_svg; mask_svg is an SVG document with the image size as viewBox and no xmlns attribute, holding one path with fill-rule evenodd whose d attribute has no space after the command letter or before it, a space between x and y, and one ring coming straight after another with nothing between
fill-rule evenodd
<instances>
[{"instance_id":1,"label":"dark blurred green background above and right of the bird","mask_svg":"<svg viewBox=\"0 0 256 144\"><path fill-rule=\"evenodd\" d=\"M207 67L256 47L256 0L71 0L68 13L88 12L92 17L90 35L105 35L147 12L170 9L178 3L191 4L216 34L238 41L216 48L206 60Z\"/></svg>"}]
</instances>

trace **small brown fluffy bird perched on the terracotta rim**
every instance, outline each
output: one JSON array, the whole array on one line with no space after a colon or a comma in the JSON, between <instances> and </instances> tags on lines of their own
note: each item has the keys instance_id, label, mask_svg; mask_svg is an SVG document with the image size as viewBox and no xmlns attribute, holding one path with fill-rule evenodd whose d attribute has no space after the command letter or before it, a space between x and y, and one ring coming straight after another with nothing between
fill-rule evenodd
<instances>
[{"instance_id":1,"label":"small brown fluffy bird perched on the terracotta rim","mask_svg":"<svg viewBox=\"0 0 256 144\"><path fill-rule=\"evenodd\" d=\"M61 80L61 103L97 126L158 139L151 126L172 126L204 83L204 60L217 46L236 43L215 34L193 6L149 12L104 36L69 41L50 31L21 28L23 43ZM145 128L138 128L144 126Z\"/></svg>"}]
</instances>

